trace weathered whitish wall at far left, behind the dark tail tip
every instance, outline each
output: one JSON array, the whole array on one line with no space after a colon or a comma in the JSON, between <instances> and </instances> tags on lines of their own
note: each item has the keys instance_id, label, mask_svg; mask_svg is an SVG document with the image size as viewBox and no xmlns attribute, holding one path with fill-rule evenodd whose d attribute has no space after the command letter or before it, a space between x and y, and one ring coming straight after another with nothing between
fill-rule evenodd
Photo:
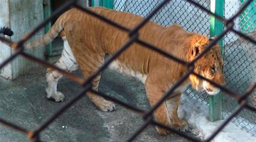
<instances>
[{"instance_id":1,"label":"weathered whitish wall at far left, behind the dark tail tip","mask_svg":"<svg viewBox=\"0 0 256 142\"><path fill-rule=\"evenodd\" d=\"M1 0L0 27L10 27L14 35L12 41L19 41L22 36L31 31L44 20L43 0ZM34 41L44 34L44 28L35 34L29 41ZM45 49L29 50L27 53L44 59ZM10 47L0 43L0 63L14 52ZM28 61L21 56L15 58L11 64L1 70L0 76L15 79L18 75L28 72L39 65Z\"/></svg>"}]
</instances>

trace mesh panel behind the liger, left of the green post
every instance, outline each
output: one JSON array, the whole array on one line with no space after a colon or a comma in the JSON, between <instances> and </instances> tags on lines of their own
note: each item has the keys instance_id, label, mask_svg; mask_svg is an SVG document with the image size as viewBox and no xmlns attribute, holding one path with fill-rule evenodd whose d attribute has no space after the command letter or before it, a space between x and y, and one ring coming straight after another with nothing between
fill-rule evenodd
<instances>
[{"instance_id":1,"label":"mesh panel behind the liger, left of the green post","mask_svg":"<svg viewBox=\"0 0 256 142\"><path fill-rule=\"evenodd\" d=\"M146 17L148 13L162 1L163 0L114 0L113 8L114 10ZM210 9L209 0L194 1L208 10ZM163 26L178 24L188 32L201 33L209 36L209 14L186 0L171 0L166 6L163 6L151 20ZM205 92L195 92L192 87L189 87L186 92L196 100L208 104L208 99L206 99L208 95Z\"/></svg>"}]
</instances>

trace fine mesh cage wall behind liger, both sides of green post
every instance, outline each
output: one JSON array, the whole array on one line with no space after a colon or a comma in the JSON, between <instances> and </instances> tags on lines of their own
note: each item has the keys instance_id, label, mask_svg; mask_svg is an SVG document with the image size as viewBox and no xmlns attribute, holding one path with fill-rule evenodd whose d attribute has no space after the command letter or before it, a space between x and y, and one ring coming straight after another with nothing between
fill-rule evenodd
<instances>
[{"instance_id":1,"label":"fine mesh cage wall behind liger, both sides of green post","mask_svg":"<svg viewBox=\"0 0 256 142\"><path fill-rule=\"evenodd\" d=\"M113 8L146 17L162 0L114 0ZM210 0L195 0L207 9L210 9ZM239 10L243 0L225 0L224 16L229 18ZM255 5L256 2L253 2ZM235 29L243 31L247 35L256 38L255 20L256 9L248 7L239 18L235 19ZM201 33L209 37L210 16L200 8L192 5L186 0L171 0L153 18L152 21L163 26L178 24L188 32ZM254 24L253 24L254 23ZM226 86L235 89L239 93L244 92L249 85L256 81L256 47L250 42L239 38L232 32L224 36L224 67L223 72L226 78ZM205 92L195 92L191 87L186 90L194 99L203 101L208 105L208 95ZM253 103L253 96L250 96L250 104ZM227 118L238 104L236 101L223 94L222 114ZM237 117L233 118L233 123L248 133L256 134L256 114L244 110Z\"/></svg>"}]
</instances>

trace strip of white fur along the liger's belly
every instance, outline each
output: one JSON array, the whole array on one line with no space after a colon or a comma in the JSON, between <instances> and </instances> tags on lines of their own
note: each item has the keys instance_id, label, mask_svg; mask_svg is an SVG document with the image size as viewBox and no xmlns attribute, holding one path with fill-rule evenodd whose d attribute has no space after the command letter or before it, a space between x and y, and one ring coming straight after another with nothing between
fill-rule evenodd
<instances>
[{"instance_id":1,"label":"strip of white fur along the liger's belly","mask_svg":"<svg viewBox=\"0 0 256 142\"><path fill-rule=\"evenodd\" d=\"M125 64L122 64L118 60L112 61L112 63L108 66L108 68L111 70L116 70L121 73L124 73L125 75L138 78L143 84L145 84L146 78L148 76L146 74L142 74L141 72L132 70L131 68L129 68Z\"/></svg>"}]
</instances>

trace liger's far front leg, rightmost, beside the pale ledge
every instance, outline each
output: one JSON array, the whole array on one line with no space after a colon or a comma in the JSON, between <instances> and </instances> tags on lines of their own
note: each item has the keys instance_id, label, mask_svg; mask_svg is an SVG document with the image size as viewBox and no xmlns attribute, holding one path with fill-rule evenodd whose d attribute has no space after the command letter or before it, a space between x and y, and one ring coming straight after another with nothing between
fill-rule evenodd
<instances>
[{"instance_id":1,"label":"liger's far front leg, rightmost, beside the pale ledge","mask_svg":"<svg viewBox=\"0 0 256 142\"><path fill-rule=\"evenodd\" d=\"M189 129L188 123L180 119L177 114L181 94L171 95L171 96L175 96L175 97L171 97L170 99L166 100L166 105L169 112L170 120L172 122L172 127L182 132L188 131Z\"/></svg>"}]
</instances>

